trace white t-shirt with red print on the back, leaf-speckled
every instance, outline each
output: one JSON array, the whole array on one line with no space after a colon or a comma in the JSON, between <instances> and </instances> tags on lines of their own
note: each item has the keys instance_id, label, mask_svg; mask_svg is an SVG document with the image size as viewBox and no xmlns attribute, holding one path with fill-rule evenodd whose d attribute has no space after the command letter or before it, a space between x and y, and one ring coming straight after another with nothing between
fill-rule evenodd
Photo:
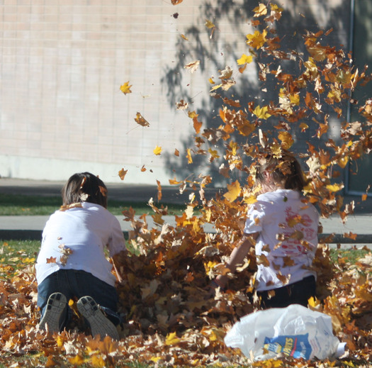
<instances>
[{"instance_id":1,"label":"white t-shirt with red print on the back, leaf-speckled","mask_svg":"<svg viewBox=\"0 0 372 368\"><path fill-rule=\"evenodd\" d=\"M256 243L257 291L293 284L314 275L319 214L299 191L261 194L248 211L244 233L259 233Z\"/></svg>"}]
</instances>

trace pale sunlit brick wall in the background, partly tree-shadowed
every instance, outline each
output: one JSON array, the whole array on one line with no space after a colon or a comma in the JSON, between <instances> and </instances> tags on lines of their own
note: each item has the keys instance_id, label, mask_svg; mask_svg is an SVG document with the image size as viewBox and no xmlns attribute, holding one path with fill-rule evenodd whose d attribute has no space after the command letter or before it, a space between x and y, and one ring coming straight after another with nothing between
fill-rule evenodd
<instances>
[{"instance_id":1,"label":"pale sunlit brick wall in the background, partly tree-shadowed","mask_svg":"<svg viewBox=\"0 0 372 368\"><path fill-rule=\"evenodd\" d=\"M282 2L292 19L283 29L333 26L334 42L348 42L349 1ZM115 182L125 167L128 183L181 177L184 164L171 164L173 152L184 157L193 130L175 102L211 108L208 79L226 65L237 69L254 6L253 0L178 6L170 0L0 0L0 175L60 180L90 170ZM218 26L212 37L205 19ZM194 60L201 66L191 74L183 65ZM247 73L252 85L256 72L252 65ZM133 93L124 95L120 85L127 81ZM150 127L135 123L137 112ZM154 155L156 145L162 155ZM208 169L200 165L193 170Z\"/></svg>"}]
</instances>

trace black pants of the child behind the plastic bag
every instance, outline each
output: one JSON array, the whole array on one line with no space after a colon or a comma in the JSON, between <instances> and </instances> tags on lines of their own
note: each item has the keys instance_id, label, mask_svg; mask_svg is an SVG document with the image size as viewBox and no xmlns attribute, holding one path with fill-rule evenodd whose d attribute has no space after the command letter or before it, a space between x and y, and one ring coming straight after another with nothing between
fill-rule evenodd
<instances>
[{"instance_id":1,"label":"black pants of the child behind the plastic bag","mask_svg":"<svg viewBox=\"0 0 372 368\"><path fill-rule=\"evenodd\" d=\"M308 299L315 297L316 281L315 277L308 276L305 279L294 282L278 289L268 291L257 291L261 299L261 308L285 308L291 304L308 306ZM275 295L271 296L272 292Z\"/></svg>"}]
</instances>

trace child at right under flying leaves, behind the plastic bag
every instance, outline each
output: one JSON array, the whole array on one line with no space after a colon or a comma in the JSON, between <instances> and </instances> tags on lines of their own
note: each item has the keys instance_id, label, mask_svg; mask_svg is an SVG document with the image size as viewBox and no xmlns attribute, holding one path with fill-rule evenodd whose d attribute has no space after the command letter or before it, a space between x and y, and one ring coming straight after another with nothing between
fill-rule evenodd
<instances>
[{"instance_id":1,"label":"child at right under flying leaves, behind the plastic bag","mask_svg":"<svg viewBox=\"0 0 372 368\"><path fill-rule=\"evenodd\" d=\"M293 155L267 154L260 164L256 180L261 194L249 208L242 240L226 267L234 273L254 246L258 264L255 289L261 307L308 306L308 299L315 296L312 260L319 215L301 194L305 177ZM223 289L227 279L219 275L212 284Z\"/></svg>"}]
</instances>

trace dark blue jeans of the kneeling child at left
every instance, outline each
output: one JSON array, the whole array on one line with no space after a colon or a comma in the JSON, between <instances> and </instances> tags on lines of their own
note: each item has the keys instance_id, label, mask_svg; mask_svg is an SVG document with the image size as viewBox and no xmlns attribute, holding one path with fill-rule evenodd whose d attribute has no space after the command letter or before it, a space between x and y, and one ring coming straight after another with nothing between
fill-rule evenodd
<instances>
[{"instance_id":1,"label":"dark blue jeans of the kneeling child at left","mask_svg":"<svg viewBox=\"0 0 372 368\"><path fill-rule=\"evenodd\" d=\"M40 285L38 285L38 306L41 316L44 315L47 299L50 294L60 292L69 299L80 299L81 296L91 296L106 316L115 325L121 322L118 311L118 293L115 287L98 279L89 272L77 269L60 269L50 274ZM68 307L67 307L68 308ZM65 319L68 318L68 310Z\"/></svg>"}]
</instances>

